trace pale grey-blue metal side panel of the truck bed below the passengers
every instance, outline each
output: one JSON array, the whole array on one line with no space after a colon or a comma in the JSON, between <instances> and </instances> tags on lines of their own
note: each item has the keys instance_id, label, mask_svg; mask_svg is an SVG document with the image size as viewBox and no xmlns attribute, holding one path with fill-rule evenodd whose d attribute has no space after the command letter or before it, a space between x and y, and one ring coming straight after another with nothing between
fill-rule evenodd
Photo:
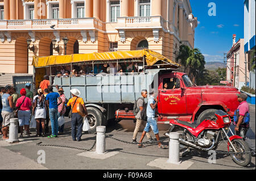
<instances>
[{"instance_id":1,"label":"pale grey-blue metal side panel of the truck bed below the passengers","mask_svg":"<svg viewBox=\"0 0 256 181\"><path fill-rule=\"evenodd\" d=\"M63 87L67 99L71 97L70 90L78 89L80 97L86 103L134 103L141 96L141 90L149 91L154 81L158 89L158 72L152 69L146 73L129 75L86 75L85 77L55 77L55 85Z\"/></svg>"}]
</instances>

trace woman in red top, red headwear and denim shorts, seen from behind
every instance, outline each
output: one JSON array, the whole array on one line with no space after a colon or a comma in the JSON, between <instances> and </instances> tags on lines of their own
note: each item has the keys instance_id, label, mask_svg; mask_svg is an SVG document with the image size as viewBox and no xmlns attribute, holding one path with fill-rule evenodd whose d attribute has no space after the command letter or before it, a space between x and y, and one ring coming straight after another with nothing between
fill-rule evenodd
<instances>
[{"instance_id":1,"label":"woman in red top, red headwear and denim shorts, seen from behind","mask_svg":"<svg viewBox=\"0 0 256 181\"><path fill-rule=\"evenodd\" d=\"M23 137L23 126L25 127L25 131L27 132L27 136L30 136L30 109L32 107L32 104L30 98L26 97L26 94L26 89L20 90L21 97L16 102L16 107L18 108L18 119L20 129L19 137Z\"/></svg>"}]
</instances>

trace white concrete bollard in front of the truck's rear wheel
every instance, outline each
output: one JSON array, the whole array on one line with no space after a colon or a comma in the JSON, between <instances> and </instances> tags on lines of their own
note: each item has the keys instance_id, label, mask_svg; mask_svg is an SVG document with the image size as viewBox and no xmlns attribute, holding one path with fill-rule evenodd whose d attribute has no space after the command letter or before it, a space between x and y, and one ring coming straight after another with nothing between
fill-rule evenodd
<instances>
[{"instance_id":1,"label":"white concrete bollard in front of the truck's rear wheel","mask_svg":"<svg viewBox=\"0 0 256 181\"><path fill-rule=\"evenodd\" d=\"M106 146L106 141L105 141L105 132L106 132L106 127L104 126L99 126L96 128L97 136L96 136L96 153L97 154L104 154L105 153L105 146Z\"/></svg>"}]
</instances>

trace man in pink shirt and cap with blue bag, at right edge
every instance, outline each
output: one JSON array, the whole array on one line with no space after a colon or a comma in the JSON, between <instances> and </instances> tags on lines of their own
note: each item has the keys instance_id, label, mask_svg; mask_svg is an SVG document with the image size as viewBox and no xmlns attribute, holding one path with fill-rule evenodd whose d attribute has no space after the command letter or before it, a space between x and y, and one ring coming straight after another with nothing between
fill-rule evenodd
<instances>
[{"instance_id":1,"label":"man in pink shirt and cap with blue bag, at right edge","mask_svg":"<svg viewBox=\"0 0 256 181\"><path fill-rule=\"evenodd\" d=\"M235 111L236 116L234 116L234 124L236 124L235 131L238 136L241 136L246 141L250 150L254 150L251 155L255 157L255 144L246 137L246 133L250 127L250 111L246 99L247 95L245 93L237 94L237 100L240 104Z\"/></svg>"}]
</instances>

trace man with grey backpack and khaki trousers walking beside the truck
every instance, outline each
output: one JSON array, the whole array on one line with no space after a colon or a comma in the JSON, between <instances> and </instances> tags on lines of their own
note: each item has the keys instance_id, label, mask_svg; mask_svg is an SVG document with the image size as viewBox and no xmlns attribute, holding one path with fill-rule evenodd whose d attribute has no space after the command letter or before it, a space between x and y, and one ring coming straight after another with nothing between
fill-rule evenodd
<instances>
[{"instance_id":1,"label":"man with grey backpack and khaki trousers walking beside the truck","mask_svg":"<svg viewBox=\"0 0 256 181\"><path fill-rule=\"evenodd\" d=\"M144 106L145 106L144 99L147 98L147 90L143 89L141 91L141 96L142 97L140 97L136 100L136 102L134 103L134 108L133 108L135 119L136 119L136 125L135 125L135 129L133 132L133 140L132 140L133 143L137 143L136 137L139 132L139 128L141 128L141 125L143 123L143 120L141 118L141 111L144 109ZM150 133L146 133L146 136L148 138L148 141L152 141Z\"/></svg>"}]
</instances>

